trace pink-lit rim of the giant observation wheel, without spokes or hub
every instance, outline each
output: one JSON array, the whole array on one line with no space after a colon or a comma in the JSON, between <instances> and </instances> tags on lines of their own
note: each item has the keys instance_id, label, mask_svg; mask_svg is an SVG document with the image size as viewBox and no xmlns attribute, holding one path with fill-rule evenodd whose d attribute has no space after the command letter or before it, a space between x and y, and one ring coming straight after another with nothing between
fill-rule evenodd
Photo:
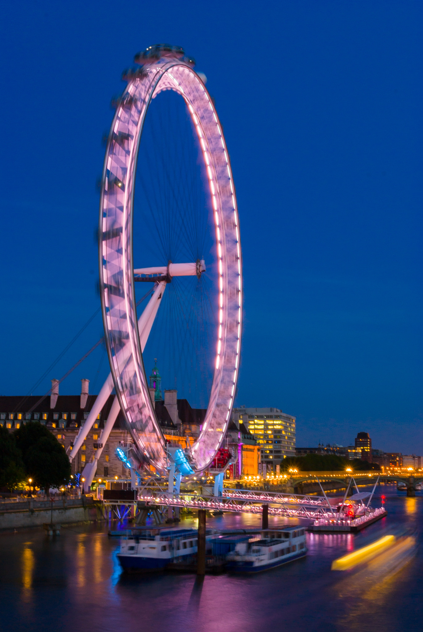
<instances>
[{"instance_id":1,"label":"pink-lit rim of the giant observation wheel, without spokes or hub","mask_svg":"<svg viewBox=\"0 0 423 632\"><path fill-rule=\"evenodd\" d=\"M181 54L167 54L128 77L116 107L104 161L99 266L102 315L116 395L137 454L166 469L166 441L150 400L137 327L132 258L133 198L138 149L151 100L162 90L183 97L197 131L209 181L218 258L218 334L214 374L201 432L192 447L195 470L210 465L223 441L238 379L242 328L242 263L238 209L218 114L204 83Z\"/></svg>"}]
</instances>

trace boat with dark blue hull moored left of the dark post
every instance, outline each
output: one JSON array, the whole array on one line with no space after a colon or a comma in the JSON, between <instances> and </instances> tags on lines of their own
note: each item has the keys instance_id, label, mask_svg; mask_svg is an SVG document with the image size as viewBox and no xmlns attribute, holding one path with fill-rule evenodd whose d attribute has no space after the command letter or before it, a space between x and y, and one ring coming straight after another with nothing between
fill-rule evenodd
<instances>
[{"instance_id":1,"label":"boat with dark blue hull moored left of the dark post","mask_svg":"<svg viewBox=\"0 0 423 632\"><path fill-rule=\"evenodd\" d=\"M120 542L118 560L124 571L161 571L196 554L197 535L196 529L178 527L130 535Z\"/></svg>"}]
</instances>

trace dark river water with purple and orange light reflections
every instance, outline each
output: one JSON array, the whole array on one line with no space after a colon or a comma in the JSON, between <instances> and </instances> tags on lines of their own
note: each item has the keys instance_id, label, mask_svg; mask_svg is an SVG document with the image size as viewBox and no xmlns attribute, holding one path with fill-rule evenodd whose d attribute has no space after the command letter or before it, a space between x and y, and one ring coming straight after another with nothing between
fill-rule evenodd
<instances>
[{"instance_id":1,"label":"dark river water with purple and orange light reflections","mask_svg":"<svg viewBox=\"0 0 423 632\"><path fill-rule=\"evenodd\" d=\"M423 564L417 546L395 565L331 571L342 554L403 530L422 539L423 496L381 485L388 516L356 535L307 536L309 554L255 576L121 573L105 525L0 535L0 629L13 632L413 632L422 626ZM269 517L269 526L275 519ZM297 524L298 521L286 520ZM304 523L304 522L303 522ZM257 526L224 514L209 526ZM281 524L279 519L278 524ZM183 521L181 525L195 525ZM116 528L116 527L115 527Z\"/></svg>"}]
</instances>

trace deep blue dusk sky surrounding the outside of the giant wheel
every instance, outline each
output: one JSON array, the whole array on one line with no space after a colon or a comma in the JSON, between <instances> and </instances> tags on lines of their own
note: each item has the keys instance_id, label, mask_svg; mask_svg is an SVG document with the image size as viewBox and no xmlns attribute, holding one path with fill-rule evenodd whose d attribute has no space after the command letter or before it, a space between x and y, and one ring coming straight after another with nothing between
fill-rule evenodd
<instances>
[{"instance_id":1,"label":"deep blue dusk sky surrounding the outside of the giant wheel","mask_svg":"<svg viewBox=\"0 0 423 632\"><path fill-rule=\"evenodd\" d=\"M297 446L364 430L423 454L422 14L411 0L1 3L0 393L30 392L99 307L109 103L135 52L171 42L207 75L235 178L236 402L297 416ZM98 314L34 394L101 335ZM100 346L60 392L82 377L98 392L107 372Z\"/></svg>"}]
</instances>

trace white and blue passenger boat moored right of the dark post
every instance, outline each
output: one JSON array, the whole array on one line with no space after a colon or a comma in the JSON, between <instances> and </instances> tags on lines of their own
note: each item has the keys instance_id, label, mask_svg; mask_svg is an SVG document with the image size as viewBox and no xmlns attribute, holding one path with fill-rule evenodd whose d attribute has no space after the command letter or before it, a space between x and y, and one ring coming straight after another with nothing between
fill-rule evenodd
<instances>
[{"instance_id":1,"label":"white and blue passenger boat moored right of the dark post","mask_svg":"<svg viewBox=\"0 0 423 632\"><path fill-rule=\"evenodd\" d=\"M287 526L266 529L261 538L239 542L226 556L226 570L231 573L259 573L292 562L307 554L304 528Z\"/></svg>"}]
</instances>

